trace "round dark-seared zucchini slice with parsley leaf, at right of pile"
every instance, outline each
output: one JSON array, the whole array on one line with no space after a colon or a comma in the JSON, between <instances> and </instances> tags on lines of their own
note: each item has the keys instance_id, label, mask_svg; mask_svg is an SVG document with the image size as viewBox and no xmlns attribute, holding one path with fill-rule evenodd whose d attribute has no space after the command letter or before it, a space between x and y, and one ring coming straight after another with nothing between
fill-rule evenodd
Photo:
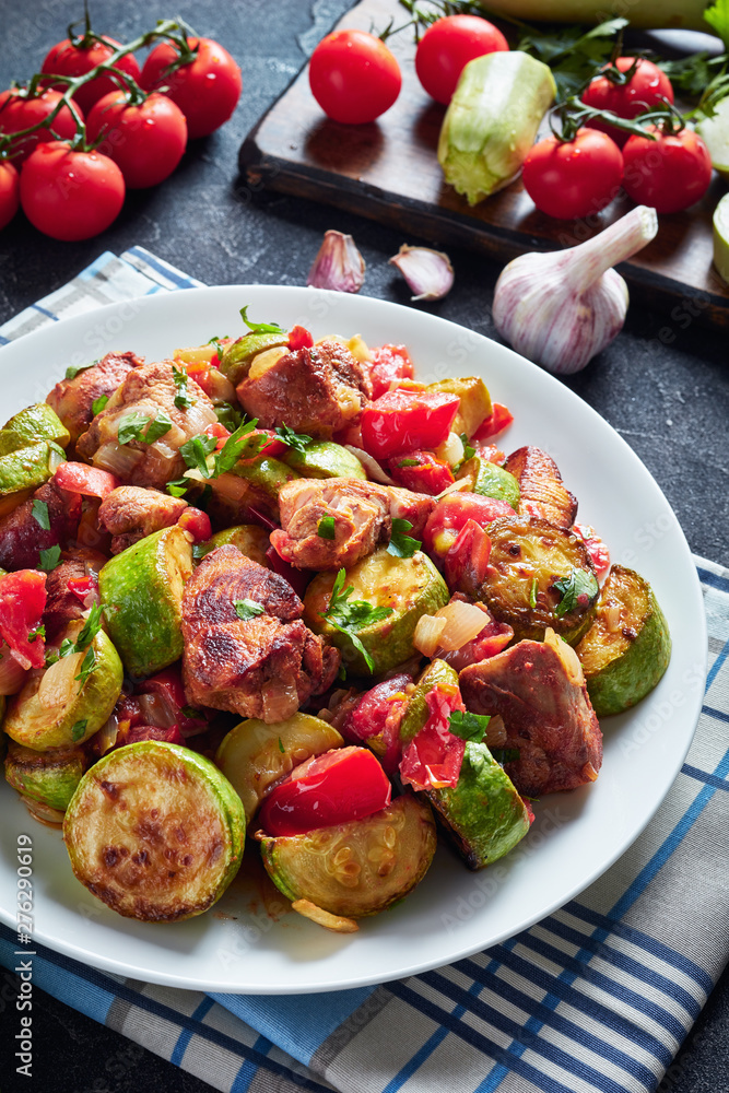
<instances>
[{"instance_id":1,"label":"round dark-seared zucchini slice with parsley leaf, at right of pile","mask_svg":"<svg viewBox=\"0 0 729 1093\"><path fill-rule=\"evenodd\" d=\"M575 645L595 613L598 583L584 541L566 528L522 516L486 528L491 556L479 599L517 640L540 642L551 626Z\"/></svg>"}]
</instances>

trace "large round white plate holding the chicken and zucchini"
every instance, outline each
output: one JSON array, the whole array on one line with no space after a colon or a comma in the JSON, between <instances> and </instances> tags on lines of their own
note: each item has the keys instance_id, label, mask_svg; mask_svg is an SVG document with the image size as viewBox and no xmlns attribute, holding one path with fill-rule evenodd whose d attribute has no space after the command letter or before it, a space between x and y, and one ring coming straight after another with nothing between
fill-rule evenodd
<instances>
[{"instance_id":1,"label":"large round white plate holding the chicken and zucchini","mask_svg":"<svg viewBox=\"0 0 729 1093\"><path fill-rule=\"evenodd\" d=\"M97 967L178 987L287 994L380 983L457 960L512 937L575 896L636 838L674 780L701 708L706 633L699 585L668 502L637 456L585 402L502 345L396 304L293 287L217 287L148 296L99 308L0 350L2 418L45 399L69 364L108 350L148 359L213 334L237 336L238 309L258 321L301 322L315 337L360 332L373 345L404 342L418 375L481 374L515 414L503 444L545 448L614 561L654 586L673 635L658 687L632 713L603 722L598 781L544 798L516 850L470 873L445 848L416 891L395 909L334 936L293 913L266 914L256 885L236 882L224 901L174 926L130 921L73 878L60 834L33 822L1 790L0 915L15 921L16 837L34 843L35 937ZM230 916L235 916L230 917Z\"/></svg>"}]
</instances>

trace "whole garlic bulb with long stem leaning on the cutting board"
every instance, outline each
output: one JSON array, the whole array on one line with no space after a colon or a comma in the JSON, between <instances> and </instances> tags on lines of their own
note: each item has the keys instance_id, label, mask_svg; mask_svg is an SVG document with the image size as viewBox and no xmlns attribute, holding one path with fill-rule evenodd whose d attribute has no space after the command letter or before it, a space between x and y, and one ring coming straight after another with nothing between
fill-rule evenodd
<instances>
[{"instance_id":1,"label":"whole garlic bulb with long stem leaning on the cutting board","mask_svg":"<svg viewBox=\"0 0 729 1093\"><path fill-rule=\"evenodd\" d=\"M496 282L499 334L550 372L579 372L625 321L627 285L611 267L637 254L657 231L656 210L638 205L578 247L520 255Z\"/></svg>"}]
</instances>

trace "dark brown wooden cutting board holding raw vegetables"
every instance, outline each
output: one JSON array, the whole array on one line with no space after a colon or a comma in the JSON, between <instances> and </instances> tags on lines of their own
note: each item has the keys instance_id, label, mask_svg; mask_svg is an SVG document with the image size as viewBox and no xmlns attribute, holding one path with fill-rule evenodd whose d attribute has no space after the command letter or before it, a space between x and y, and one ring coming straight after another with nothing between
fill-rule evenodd
<instances>
[{"instance_id":1,"label":"dark brown wooden cutting board holding raw vegetables","mask_svg":"<svg viewBox=\"0 0 729 1093\"><path fill-rule=\"evenodd\" d=\"M337 24L379 31L407 17L396 0L362 0ZM556 221L534 209L521 181L474 208L443 180L436 157L445 108L420 85L410 31L388 39L402 70L402 91L377 121L344 126L317 106L304 68L248 134L239 153L252 186L311 198L389 224L412 243L456 244L509 260L528 250L574 246L631 207L621 195L586 221ZM701 317L729 326L729 285L712 265L712 215L726 185L718 176L702 202L660 218L658 236L620 267L634 295L669 313L682 328ZM665 337L673 340L667 325Z\"/></svg>"}]
</instances>

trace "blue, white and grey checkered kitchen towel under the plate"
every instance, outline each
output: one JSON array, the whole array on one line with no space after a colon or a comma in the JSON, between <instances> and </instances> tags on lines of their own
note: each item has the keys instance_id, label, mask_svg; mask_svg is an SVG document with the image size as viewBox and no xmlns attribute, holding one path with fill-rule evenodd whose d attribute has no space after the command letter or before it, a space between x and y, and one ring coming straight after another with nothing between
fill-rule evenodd
<instances>
[{"instance_id":1,"label":"blue, white and grey checkered kitchen towel under the plate","mask_svg":"<svg viewBox=\"0 0 729 1093\"><path fill-rule=\"evenodd\" d=\"M140 247L103 255L0 328L196 281ZM696 738L644 834L530 930L385 986L313 996L204 995L36 945L34 982L226 1093L655 1091L729 957L729 571L694 560L709 671ZM15 963L0 928L0 961Z\"/></svg>"}]
</instances>

